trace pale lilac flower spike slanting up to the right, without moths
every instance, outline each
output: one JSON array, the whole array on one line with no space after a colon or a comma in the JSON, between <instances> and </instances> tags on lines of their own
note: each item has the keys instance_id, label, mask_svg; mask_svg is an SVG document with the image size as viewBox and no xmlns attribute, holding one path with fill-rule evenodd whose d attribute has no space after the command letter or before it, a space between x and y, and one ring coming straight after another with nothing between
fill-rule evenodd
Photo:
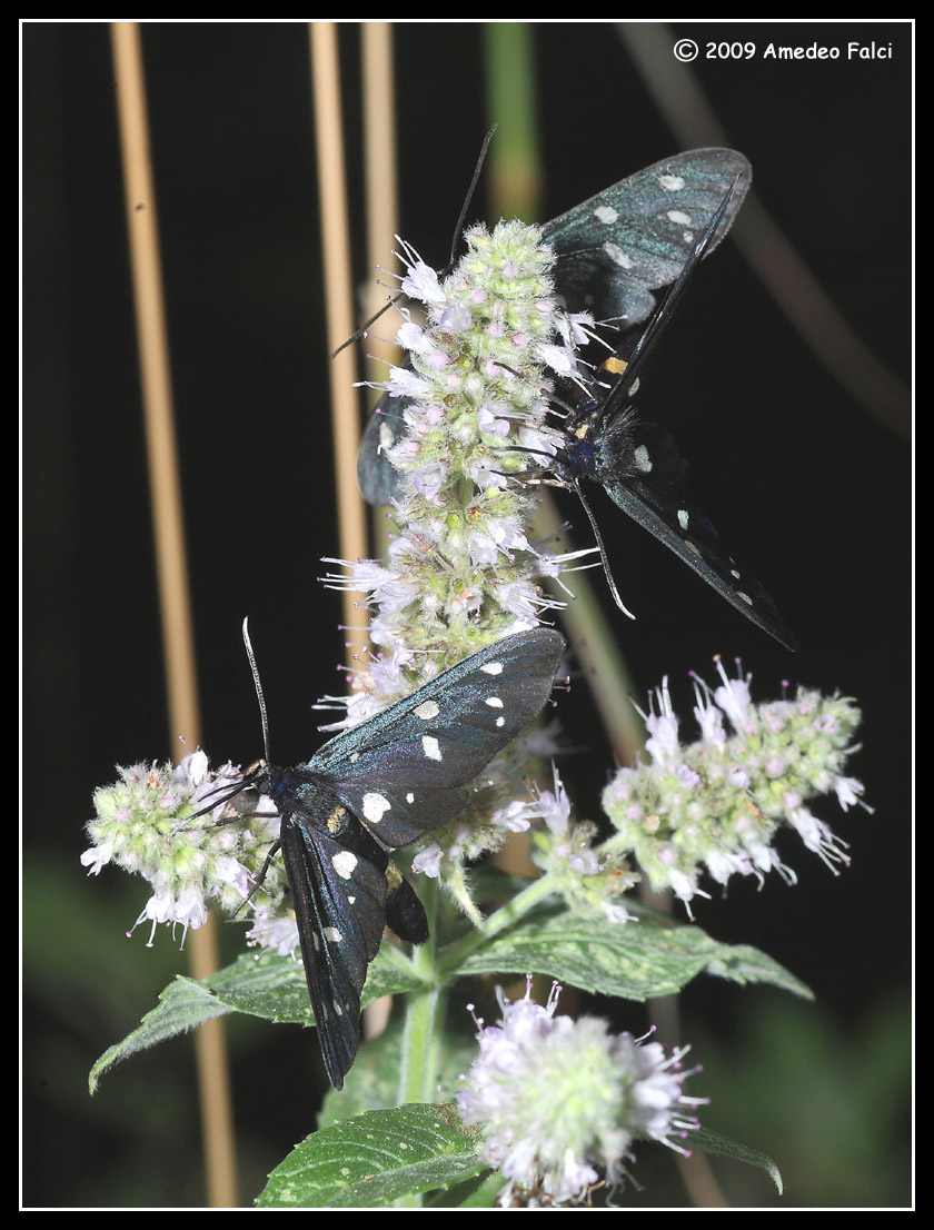
<instances>
[{"instance_id":1,"label":"pale lilac flower spike slanting up to the right, without moths","mask_svg":"<svg viewBox=\"0 0 934 1230\"><path fill-rule=\"evenodd\" d=\"M752 676L731 678L715 661L717 686L692 676L698 742L679 739L668 680L656 689L642 713L650 760L620 769L603 795L617 829L607 847L631 852L656 891L671 889L685 904L708 895L698 887L704 873L721 884L735 873L762 884L774 870L794 884L773 845L781 827L838 875L849 863L847 843L806 803L833 793L844 811L866 807L861 782L843 772L856 750L859 708L807 689L757 705Z\"/></svg>"}]
</instances>

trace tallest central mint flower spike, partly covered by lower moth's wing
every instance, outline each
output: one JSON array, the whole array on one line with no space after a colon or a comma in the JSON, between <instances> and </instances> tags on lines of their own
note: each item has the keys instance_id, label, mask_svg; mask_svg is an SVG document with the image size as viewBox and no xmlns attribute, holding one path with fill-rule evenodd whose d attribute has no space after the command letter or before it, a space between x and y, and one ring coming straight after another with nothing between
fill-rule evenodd
<instances>
[{"instance_id":1,"label":"tallest central mint flower spike, partly covered by lower moth's wing","mask_svg":"<svg viewBox=\"0 0 934 1230\"><path fill-rule=\"evenodd\" d=\"M384 562L329 560L345 574L335 587L367 595L377 654L356 673L347 716L356 724L481 646L534 627L556 604L539 588L562 558L532 540L534 485L516 481L554 453L544 426L546 370L573 375L586 321L565 316L553 296L551 255L540 232L521 223L465 234L466 253L441 280L404 246L402 290L423 310L406 309L397 339L405 367L383 385L405 399L405 433L389 460L401 476ZM508 812L525 756L498 756L484 788L438 830L415 870L438 876L498 849L527 827Z\"/></svg>"}]
</instances>

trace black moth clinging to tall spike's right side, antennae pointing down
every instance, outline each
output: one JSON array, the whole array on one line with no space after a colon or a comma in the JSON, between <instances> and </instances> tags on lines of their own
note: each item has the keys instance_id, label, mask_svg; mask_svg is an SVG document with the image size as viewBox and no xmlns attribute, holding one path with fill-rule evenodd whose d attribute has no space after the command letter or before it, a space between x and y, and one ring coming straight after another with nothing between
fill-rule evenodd
<instances>
[{"instance_id":1,"label":"black moth clinging to tall spike's right side, antennae pointing down","mask_svg":"<svg viewBox=\"0 0 934 1230\"><path fill-rule=\"evenodd\" d=\"M684 268L634 344L628 358L604 364L619 379L607 386L593 381L564 423L566 443L548 469L581 499L593 526L613 598L626 610L617 592L596 519L581 491L581 480L598 482L624 513L637 522L732 606L774 636L789 649L797 642L762 584L743 572L724 549L710 519L681 494L688 462L679 456L674 440L658 423L644 422L633 405L649 354L672 320L674 310L701 257L715 244L726 219L733 189L727 189L719 208L697 239ZM629 611L626 611L629 614Z\"/></svg>"}]
</instances>

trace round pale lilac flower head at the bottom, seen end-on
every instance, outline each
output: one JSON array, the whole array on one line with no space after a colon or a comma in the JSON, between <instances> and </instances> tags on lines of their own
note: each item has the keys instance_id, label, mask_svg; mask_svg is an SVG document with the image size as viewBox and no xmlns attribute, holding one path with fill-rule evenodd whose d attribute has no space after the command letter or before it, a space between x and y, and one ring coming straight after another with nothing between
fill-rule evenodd
<instances>
[{"instance_id":1,"label":"round pale lilac flower head at the bottom, seen end-on","mask_svg":"<svg viewBox=\"0 0 934 1230\"><path fill-rule=\"evenodd\" d=\"M516 1002L497 988L502 1018L476 1021L480 1054L460 1077L460 1116L480 1128L484 1160L507 1180L501 1204L575 1204L601 1178L621 1186L637 1135L687 1155L678 1141L706 1102L682 1092L699 1070L681 1070L687 1047L666 1055L597 1017L556 1016L560 993L554 983L543 1007L530 978Z\"/></svg>"}]
</instances>

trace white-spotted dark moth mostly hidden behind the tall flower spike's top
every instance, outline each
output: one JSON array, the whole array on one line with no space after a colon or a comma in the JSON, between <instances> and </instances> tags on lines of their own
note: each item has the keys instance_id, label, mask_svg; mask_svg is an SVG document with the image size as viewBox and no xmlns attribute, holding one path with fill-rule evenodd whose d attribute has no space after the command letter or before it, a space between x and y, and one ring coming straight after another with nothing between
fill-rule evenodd
<instances>
[{"instance_id":1,"label":"white-spotted dark moth mostly hidden behind the tall flower spike's top","mask_svg":"<svg viewBox=\"0 0 934 1230\"><path fill-rule=\"evenodd\" d=\"M690 150L636 171L545 223L559 299L567 311L587 310L624 330L640 325L655 308L652 292L671 285L690 258L698 220L703 225L732 187L710 252L732 225L751 181L752 169L736 150ZM370 504L401 498L399 471L386 449L405 433L407 405L407 397L384 394L367 423L357 481Z\"/></svg>"}]
</instances>

